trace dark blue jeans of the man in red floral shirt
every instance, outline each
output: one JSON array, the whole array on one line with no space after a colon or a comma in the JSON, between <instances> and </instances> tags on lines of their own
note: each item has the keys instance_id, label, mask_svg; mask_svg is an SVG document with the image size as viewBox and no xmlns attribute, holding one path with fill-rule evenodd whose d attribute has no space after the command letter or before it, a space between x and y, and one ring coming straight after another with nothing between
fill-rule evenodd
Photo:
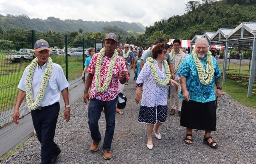
<instances>
[{"instance_id":1,"label":"dark blue jeans of the man in red floral shirt","mask_svg":"<svg viewBox=\"0 0 256 164\"><path fill-rule=\"evenodd\" d=\"M99 142L101 140L98 121L101 117L102 108L105 108L104 114L106 118L106 132L103 143L104 150L111 149L116 121L116 102L116 98L114 98L112 101L101 101L94 98L90 100L88 107L88 124L91 131L91 138L94 142Z\"/></svg>"}]
</instances>

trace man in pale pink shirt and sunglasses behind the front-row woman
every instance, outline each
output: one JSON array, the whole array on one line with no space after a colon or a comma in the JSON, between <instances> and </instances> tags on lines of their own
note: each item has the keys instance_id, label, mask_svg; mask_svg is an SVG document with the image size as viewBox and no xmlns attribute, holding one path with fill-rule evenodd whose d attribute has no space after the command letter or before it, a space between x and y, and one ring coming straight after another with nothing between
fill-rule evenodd
<instances>
[{"instance_id":1,"label":"man in pale pink shirt and sunglasses behind the front-row woman","mask_svg":"<svg viewBox=\"0 0 256 164\"><path fill-rule=\"evenodd\" d=\"M177 75L178 70L180 68L180 65L182 63L182 61L186 58L186 54L183 52L183 50L181 50L180 48L181 42L180 39L174 39L173 40L173 49L170 53L171 56L171 60L173 63L173 69L174 69L174 73L175 73L175 78L174 80L180 85L180 77ZM170 105L171 105L171 111L170 111L170 115L173 115L175 113L176 110L176 100L178 101L178 114L181 114L181 104L182 104L182 99L179 98L179 94L180 94L180 90L181 87L179 86L172 86L171 87L171 96L170 96Z\"/></svg>"}]
</instances>

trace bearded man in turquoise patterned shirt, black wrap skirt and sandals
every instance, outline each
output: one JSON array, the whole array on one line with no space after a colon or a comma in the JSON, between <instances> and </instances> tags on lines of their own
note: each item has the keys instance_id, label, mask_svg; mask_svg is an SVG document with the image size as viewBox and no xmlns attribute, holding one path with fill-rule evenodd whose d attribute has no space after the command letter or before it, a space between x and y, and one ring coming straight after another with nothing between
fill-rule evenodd
<instances>
[{"instance_id":1,"label":"bearded man in turquoise patterned shirt, black wrap skirt and sandals","mask_svg":"<svg viewBox=\"0 0 256 164\"><path fill-rule=\"evenodd\" d=\"M186 144L192 144L192 129L198 129L205 130L204 143L217 148L210 134L216 130L215 101L222 94L221 71L208 46L207 39L197 39L195 48L183 60L178 71L182 88L180 98L183 99L180 124L187 128Z\"/></svg>"}]
</instances>

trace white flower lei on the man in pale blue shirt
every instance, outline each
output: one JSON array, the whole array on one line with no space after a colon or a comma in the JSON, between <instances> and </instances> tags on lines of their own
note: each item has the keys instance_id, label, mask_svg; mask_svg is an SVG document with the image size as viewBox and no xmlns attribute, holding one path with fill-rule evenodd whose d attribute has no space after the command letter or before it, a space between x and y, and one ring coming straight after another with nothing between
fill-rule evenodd
<instances>
[{"instance_id":1,"label":"white flower lei on the man in pale blue shirt","mask_svg":"<svg viewBox=\"0 0 256 164\"><path fill-rule=\"evenodd\" d=\"M48 62L46 64L45 73L41 82L41 86L39 88L37 97L35 99L35 102L33 102L33 96L32 96L32 79L35 67L37 66L37 58L33 59L31 64L29 65L29 68L27 69L27 77L26 77L26 99L27 99L27 106L30 110L35 110L41 105L42 100L45 96L46 87L49 82L50 74L52 73L52 59L49 57Z\"/></svg>"}]
</instances>

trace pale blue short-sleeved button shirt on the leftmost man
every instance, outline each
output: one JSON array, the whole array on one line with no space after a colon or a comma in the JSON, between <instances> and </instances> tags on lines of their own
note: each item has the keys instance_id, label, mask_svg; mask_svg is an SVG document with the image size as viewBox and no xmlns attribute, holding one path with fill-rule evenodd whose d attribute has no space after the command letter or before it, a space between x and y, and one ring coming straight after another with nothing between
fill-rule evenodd
<instances>
[{"instance_id":1,"label":"pale blue short-sleeved button shirt on the leftmost man","mask_svg":"<svg viewBox=\"0 0 256 164\"><path fill-rule=\"evenodd\" d=\"M27 77L28 67L29 66L27 66L25 71L23 72L23 75L18 85L18 88L22 91L26 91L26 77ZM39 65L35 67L33 80L32 80L33 101L35 101L35 98L37 97L39 88L41 86L42 77L44 76L44 73L45 73L45 67L46 67L46 63L42 66L42 68L40 68ZM48 85L46 87L45 97L42 100L40 106L48 106L48 105L54 104L55 102L59 102L60 91L69 86L69 83L64 76L61 66L57 65L56 63L53 63L52 67L53 69L49 78Z\"/></svg>"}]
</instances>

